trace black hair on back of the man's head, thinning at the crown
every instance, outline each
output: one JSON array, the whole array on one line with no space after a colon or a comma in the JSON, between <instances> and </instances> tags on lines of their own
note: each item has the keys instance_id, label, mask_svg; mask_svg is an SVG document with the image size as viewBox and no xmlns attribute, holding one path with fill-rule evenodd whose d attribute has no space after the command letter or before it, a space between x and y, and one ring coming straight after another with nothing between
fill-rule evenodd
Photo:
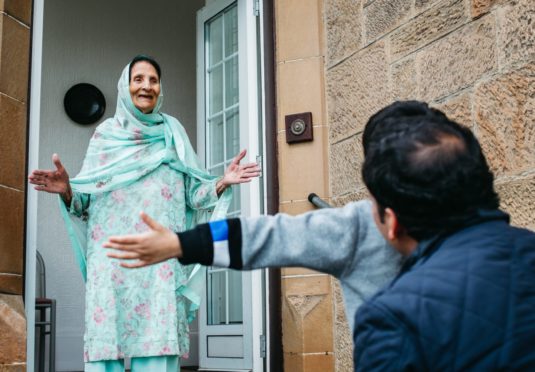
<instances>
[{"instance_id":1,"label":"black hair on back of the man's head, thinning at the crown","mask_svg":"<svg viewBox=\"0 0 535 372\"><path fill-rule=\"evenodd\" d=\"M380 212L391 208L416 240L495 209L493 175L473 133L425 103L396 102L363 134L362 175Z\"/></svg>"}]
</instances>

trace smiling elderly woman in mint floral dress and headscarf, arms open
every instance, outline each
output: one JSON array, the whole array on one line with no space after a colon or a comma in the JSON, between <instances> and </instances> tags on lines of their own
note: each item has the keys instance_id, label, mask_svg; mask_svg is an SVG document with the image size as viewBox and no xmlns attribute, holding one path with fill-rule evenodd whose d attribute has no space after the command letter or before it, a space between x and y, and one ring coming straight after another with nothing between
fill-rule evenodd
<instances>
[{"instance_id":1,"label":"smiling elderly woman in mint floral dress and headscarf, arms open","mask_svg":"<svg viewBox=\"0 0 535 372\"><path fill-rule=\"evenodd\" d=\"M200 298L198 267L169 260L127 271L106 256L106 238L146 230L141 210L178 231L222 218L230 203L228 187L259 175L257 164L240 165L245 151L223 177L208 175L182 125L160 112L160 76L152 58L134 58L119 79L115 116L95 130L78 176L69 179L56 154L55 170L29 176L36 190L61 196L86 279L86 371L122 371L125 357L132 358L133 371L178 370Z\"/></svg>"}]
</instances>

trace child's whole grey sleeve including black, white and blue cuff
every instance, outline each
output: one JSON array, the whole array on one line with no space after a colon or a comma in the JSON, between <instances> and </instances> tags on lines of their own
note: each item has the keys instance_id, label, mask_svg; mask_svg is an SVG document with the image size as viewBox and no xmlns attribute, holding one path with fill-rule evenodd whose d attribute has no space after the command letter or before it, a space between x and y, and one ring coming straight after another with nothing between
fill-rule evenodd
<instances>
[{"instance_id":1,"label":"child's whole grey sleeve including black, white and blue cuff","mask_svg":"<svg viewBox=\"0 0 535 372\"><path fill-rule=\"evenodd\" d=\"M199 226L179 234L180 261L246 270L301 266L342 277L354 269L363 241L385 244L370 206L369 201L359 201L298 216L277 214Z\"/></svg>"}]
</instances>

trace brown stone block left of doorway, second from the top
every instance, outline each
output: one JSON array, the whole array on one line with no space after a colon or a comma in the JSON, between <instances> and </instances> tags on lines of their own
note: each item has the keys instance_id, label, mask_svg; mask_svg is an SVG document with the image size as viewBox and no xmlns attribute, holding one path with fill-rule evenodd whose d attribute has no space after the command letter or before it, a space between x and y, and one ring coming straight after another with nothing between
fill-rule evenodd
<instances>
[{"instance_id":1,"label":"brown stone block left of doorway, second from the top","mask_svg":"<svg viewBox=\"0 0 535 372\"><path fill-rule=\"evenodd\" d=\"M0 92L25 102L30 66L30 29L5 14L0 15Z\"/></svg>"}]
</instances>

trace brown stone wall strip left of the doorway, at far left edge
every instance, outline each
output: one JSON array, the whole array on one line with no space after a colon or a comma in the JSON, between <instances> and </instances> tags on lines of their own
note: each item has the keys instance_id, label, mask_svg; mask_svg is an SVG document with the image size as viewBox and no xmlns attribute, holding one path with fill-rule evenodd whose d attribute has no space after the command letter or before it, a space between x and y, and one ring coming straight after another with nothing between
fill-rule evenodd
<instances>
[{"instance_id":1,"label":"brown stone wall strip left of the doorway, at far left edge","mask_svg":"<svg viewBox=\"0 0 535 372\"><path fill-rule=\"evenodd\" d=\"M24 192L30 0L0 0L0 371L26 364Z\"/></svg>"}]
</instances>

